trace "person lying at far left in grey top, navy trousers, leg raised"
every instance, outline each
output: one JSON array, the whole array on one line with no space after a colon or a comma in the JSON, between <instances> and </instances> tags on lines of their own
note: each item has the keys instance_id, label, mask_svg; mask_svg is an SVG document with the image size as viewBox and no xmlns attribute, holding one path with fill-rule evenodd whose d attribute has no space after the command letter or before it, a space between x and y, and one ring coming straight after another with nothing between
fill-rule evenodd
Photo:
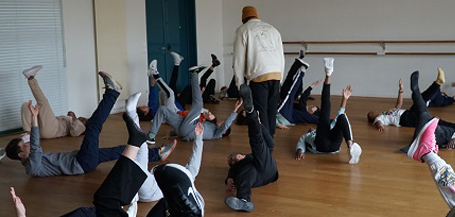
<instances>
[{"instance_id":1,"label":"person lying at far left in grey top, navy trousers, leg raised","mask_svg":"<svg viewBox=\"0 0 455 217\"><path fill-rule=\"evenodd\" d=\"M6 146L6 154L12 160L20 160L25 167L25 172L34 177L48 177L57 175L79 175L89 173L100 163L117 160L125 146L111 148L99 147L99 135L103 124L109 116L121 89L120 84L108 73L99 72L103 78L106 91L98 108L87 120L84 140L77 151L68 153L43 152L40 146L38 126L39 105L33 106L30 100L29 109L31 117L31 134L27 137L16 138ZM150 161L159 161L160 155L165 154L164 147L150 149Z\"/></svg>"}]
</instances>

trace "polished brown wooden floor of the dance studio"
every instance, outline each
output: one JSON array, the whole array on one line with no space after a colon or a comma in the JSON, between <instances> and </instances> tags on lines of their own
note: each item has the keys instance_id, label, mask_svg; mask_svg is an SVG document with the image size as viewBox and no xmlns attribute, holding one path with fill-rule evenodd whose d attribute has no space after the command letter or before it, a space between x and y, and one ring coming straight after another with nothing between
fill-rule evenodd
<instances>
[{"instance_id":1,"label":"polished brown wooden floor of the dance studio","mask_svg":"<svg viewBox=\"0 0 455 217\"><path fill-rule=\"evenodd\" d=\"M340 99L332 98L332 114ZM318 100L313 101L319 103ZM339 154L307 154L305 160L293 160L295 145L311 125L302 124L289 130L277 130L274 156L278 162L279 180L255 188L251 214L237 213L224 205L224 180L228 172L227 156L234 151L250 152L246 126L233 126L229 138L204 143L202 168L196 186L203 195L206 216L445 216L449 208L439 195L426 164L410 160L398 149L410 142L413 129L387 127L380 133L369 125L369 110L387 110L394 99L356 98L348 102L347 114L354 138L363 149L358 165L349 165L346 145ZM233 101L207 105L218 117L228 116ZM404 108L409 108L409 100ZM433 115L455 121L455 106L431 109ZM150 124L142 122L145 130ZM170 130L160 129L160 136ZM0 146L17 135L0 137ZM127 132L120 115L112 115L100 136L101 146L126 142ZM64 152L79 148L82 137L42 140L45 151ZM185 164L192 143L179 141L170 162ZM455 165L455 151L441 150L440 155ZM18 161L0 162L0 216L13 216L9 187L14 186L27 207L29 216L59 216L80 206L90 206L92 196L110 171L113 162L101 164L94 172L80 176L31 178ZM152 166L154 164L151 164ZM144 216L152 204L140 204Z\"/></svg>"}]
</instances>

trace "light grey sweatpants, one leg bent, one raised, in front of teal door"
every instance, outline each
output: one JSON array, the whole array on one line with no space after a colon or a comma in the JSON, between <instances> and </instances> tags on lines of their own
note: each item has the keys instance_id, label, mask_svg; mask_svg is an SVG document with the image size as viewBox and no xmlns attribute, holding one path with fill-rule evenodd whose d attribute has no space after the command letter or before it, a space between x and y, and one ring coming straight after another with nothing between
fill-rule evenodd
<instances>
[{"instance_id":1,"label":"light grey sweatpants, one leg bent, one raised, in front of teal door","mask_svg":"<svg viewBox=\"0 0 455 217\"><path fill-rule=\"evenodd\" d=\"M194 139L194 128L196 128L203 106L199 78L195 73L191 75L191 92L193 94L193 102L188 116L182 117L165 106L161 106L158 109L150 129L150 135L152 137L156 136L163 120L166 120L174 128L179 137L185 140Z\"/></svg>"}]
</instances>

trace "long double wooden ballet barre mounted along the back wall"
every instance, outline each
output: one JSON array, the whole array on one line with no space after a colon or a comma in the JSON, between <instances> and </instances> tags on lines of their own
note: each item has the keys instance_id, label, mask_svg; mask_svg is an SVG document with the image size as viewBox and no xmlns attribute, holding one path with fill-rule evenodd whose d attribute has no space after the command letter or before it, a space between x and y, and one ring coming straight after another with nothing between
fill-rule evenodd
<instances>
[{"instance_id":1,"label":"long double wooden ballet barre mounted along the back wall","mask_svg":"<svg viewBox=\"0 0 455 217\"><path fill-rule=\"evenodd\" d=\"M455 44L455 40L418 40L418 41L285 41L283 44L303 45L306 54L312 55L407 55L407 56L455 56L455 52L387 52L386 44ZM309 44L378 44L382 47L381 52L357 52L357 51L308 51ZM286 55L295 55L298 52L284 52Z\"/></svg>"}]
</instances>

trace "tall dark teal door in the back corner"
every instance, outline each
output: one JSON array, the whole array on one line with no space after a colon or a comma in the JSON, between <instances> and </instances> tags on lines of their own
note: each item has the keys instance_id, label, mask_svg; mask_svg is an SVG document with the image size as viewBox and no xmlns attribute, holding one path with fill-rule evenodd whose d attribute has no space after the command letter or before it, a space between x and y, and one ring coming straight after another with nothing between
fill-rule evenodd
<instances>
[{"instance_id":1,"label":"tall dark teal door in the back corner","mask_svg":"<svg viewBox=\"0 0 455 217\"><path fill-rule=\"evenodd\" d=\"M180 64L177 89L189 84L188 68L197 64L194 0L147 0L148 62L156 59L160 76L169 82L174 51L185 59Z\"/></svg>"}]
</instances>

